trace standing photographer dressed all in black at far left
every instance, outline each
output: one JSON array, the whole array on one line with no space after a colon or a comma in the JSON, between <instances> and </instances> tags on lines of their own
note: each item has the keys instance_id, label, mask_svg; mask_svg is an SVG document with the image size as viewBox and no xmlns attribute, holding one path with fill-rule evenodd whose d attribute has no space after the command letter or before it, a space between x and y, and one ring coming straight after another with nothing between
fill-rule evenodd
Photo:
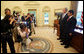
<instances>
[{"instance_id":1,"label":"standing photographer dressed all in black at far left","mask_svg":"<svg viewBox=\"0 0 84 54\"><path fill-rule=\"evenodd\" d=\"M11 29L13 29L14 18L11 16L10 9L5 9L5 17L1 20L1 43L2 52L7 53L7 42L10 47L11 53L15 53L14 42L12 38Z\"/></svg>"}]
</instances>

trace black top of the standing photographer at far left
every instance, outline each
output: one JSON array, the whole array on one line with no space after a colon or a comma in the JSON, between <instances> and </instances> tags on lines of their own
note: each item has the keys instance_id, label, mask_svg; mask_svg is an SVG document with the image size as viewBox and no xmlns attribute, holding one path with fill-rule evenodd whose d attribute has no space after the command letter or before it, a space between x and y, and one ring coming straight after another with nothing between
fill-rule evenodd
<instances>
[{"instance_id":1,"label":"black top of the standing photographer at far left","mask_svg":"<svg viewBox=\"0 0 84 54\"><path fill-rule=\"evenodd\" d=\"M10 24L9 15L6 15L3 20L1 20L1 33L8 32L8 30L11 30L14 28L13 23Z\"/></svg>"}]
</instances>

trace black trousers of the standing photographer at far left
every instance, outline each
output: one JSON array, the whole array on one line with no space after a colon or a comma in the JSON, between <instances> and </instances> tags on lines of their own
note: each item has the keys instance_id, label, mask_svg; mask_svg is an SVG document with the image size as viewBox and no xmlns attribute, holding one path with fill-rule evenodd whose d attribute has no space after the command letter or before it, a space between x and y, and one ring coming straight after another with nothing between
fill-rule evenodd
<instances>
[{"instance_id":1,"label":"black trousers of the standing photographer at far left","mask_svg":"<svg viewBox=\"0 0 84 54\"><path fill-rule=\"evenodd\" d=\"M2 53L7 53L7 42L10 47L11 53L15 53L12 35L1 35Z\"/></svg>"}]
</instances>

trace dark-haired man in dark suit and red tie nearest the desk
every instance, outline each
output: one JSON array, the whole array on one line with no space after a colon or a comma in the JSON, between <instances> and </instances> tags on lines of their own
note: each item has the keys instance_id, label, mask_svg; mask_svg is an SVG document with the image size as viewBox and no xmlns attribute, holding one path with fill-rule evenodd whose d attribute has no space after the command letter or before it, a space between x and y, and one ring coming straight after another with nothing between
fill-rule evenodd
<instances>
[{"instance_id":1,"label":"dark-haired man in dark suit and red tie nearest the desk","mask_svg":"<svg viewBox=\"0 0 84 54\"><path fill-rule=\"evenodd\" d=\"M74 33L74 29L76 27L76 18L74 18L74 11L73 10L69 10L68 11L68 19L67 19L67 22L65 24L65 28L64 28L64 36L65 36L65 46L64 48L68 48L69 45L70 45L70 42L71 42L71 39L72 39L72 36L73 36L73 33Z\"/></svg>"}]
</instances>

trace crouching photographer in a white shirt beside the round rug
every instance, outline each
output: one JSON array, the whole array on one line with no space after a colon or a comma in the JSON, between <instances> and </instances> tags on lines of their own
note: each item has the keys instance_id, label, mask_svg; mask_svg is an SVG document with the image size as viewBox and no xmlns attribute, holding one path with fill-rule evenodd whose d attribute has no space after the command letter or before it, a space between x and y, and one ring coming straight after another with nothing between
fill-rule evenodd
<instances>
[{"instance_id":1,"label":"crouching photographer in a white shirt beside the round rug","mask_svg":"<svg viewBox=\"0 0 84 54\"><path fill-rule=\"evenodd\" d=\"M17 27L18 32L18 40L22 39L20 41L20 44L18 45L18 52L21 50L21 46L26 46L26 48L29 48L29 44L31 43L31 39L28 37L30 33L30 29L27 28L25 24L20 24L20 26Z\"/></svg>"}]
</instances>

